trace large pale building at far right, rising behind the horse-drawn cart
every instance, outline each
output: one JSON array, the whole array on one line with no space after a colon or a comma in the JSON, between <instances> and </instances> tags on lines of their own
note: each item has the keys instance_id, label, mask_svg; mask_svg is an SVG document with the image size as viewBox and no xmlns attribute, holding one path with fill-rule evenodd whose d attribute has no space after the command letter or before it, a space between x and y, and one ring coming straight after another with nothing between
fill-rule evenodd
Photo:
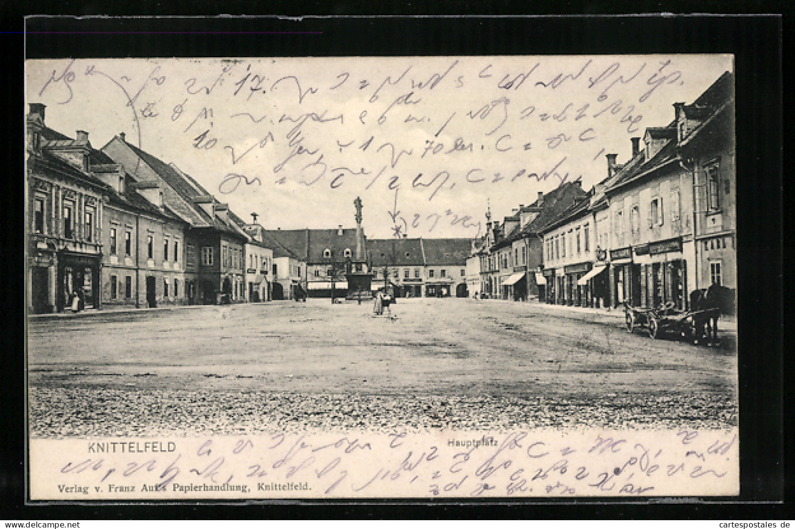
<instances>
[{"instance_id":1,"label":"large pale building at far right, rising behind the horse-drawn cart","mask_svg":"<svg viewBox=\"0 0 795 529\"><path fill-rule=\"evenodd\" d=\"M675 103L669 125L647 128L642 149L633 138L632 158L605 190L614 307L684 309L688 292L734 280L733 98L727 72L692 105Z\"/></svg>"}]
</instances>

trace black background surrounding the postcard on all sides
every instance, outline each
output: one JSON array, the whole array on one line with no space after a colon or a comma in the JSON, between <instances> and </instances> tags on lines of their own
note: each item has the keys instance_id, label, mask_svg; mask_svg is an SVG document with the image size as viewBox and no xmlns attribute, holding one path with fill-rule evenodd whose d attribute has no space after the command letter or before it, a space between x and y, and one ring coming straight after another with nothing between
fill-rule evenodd
<instances>
[{"instance_id":1,"label":"black background surrounding the postcard on all sides","mask_svg":"<svg viewBox=\"0 0 795 529\"><path fill-rule=\"evenodd\" d=\"M349 6L350 7L350 6ZM466 6L465 6L466 7ZM563 6L571 8L571 4ZM611 6L607 6L608 8ZM343 5L344 8L344 5ZM157 12L157 6L150 13ZM372 9L372 7L370 7ZM471 10L471 6L469 6ZM80 13L80 10L75 11ZM283 11L288 12L288 11ZM482 11L485 12L485 11ZM2 194L6 217L3 268L8 290L4 327L14 346L2 353L3 415L0 497L5 519L237 519L237 518L589 518L792 519L785 500L782 282L782 62L779 16L572 15L546 17L21 17L3 41L21 41L23 54L6 67L5 90L23 95L29 58L124 56L430 56L731 53L737 102L739 272L739 498L687 501L538 500L460 503L456 500L273 502L271 504L25 504L25 305L23 97L6 97L15 128L6 141L14 164ZM11 28L9 28L11 29ZM27 32L27 34L23 34ZM269 33L290 32L290 33ZM310 33L311 32L311 33ZM319 33L318 33L319 32ZM18 74L18 75L17 75ZM18 164L18 165L17 165ZM789 239L789 237L788 237ZM16 285L14 285L16 284ZM14 286L12 286L14 285ZM786 297L785 297L786 296ZM18 318L18 319L17 319ZM18 344L18 346L17 346ZM786 393L785 393L786 391ZM791 399L789 399L791 400ZM788 474L791 477L791 473ZM791 485L789 485L791 487ZM787 489L791 492L791 489ZM788 494L787 496L791 496ZM785 514L789 512L789 515Z\"/></svg>"}]
</instances>

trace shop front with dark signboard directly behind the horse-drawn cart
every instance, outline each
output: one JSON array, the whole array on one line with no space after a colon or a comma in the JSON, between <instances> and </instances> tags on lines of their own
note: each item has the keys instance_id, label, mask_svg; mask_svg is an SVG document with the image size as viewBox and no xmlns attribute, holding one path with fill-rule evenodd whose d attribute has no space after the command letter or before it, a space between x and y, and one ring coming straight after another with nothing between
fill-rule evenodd
<instances>
[{"instance_id":1,"label":"shop front with dark signboard directly behind the horse-drawn cart","mask_svg":"<svg viewBox=\"0 0 795 529\"><path fill-rule=\"evenodd\" d=\"M673 303L673 307L684 310L688 306L687 261L682 255L681 237L636 246L634 253L642 305Z\"/></svg>"}]
</instances>

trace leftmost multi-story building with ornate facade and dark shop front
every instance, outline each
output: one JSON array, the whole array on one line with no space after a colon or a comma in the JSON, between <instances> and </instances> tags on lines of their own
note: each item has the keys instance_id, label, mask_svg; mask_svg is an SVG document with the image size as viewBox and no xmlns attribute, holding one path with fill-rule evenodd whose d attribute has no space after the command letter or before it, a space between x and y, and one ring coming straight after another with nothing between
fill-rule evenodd
<instances>
[{"instance_id":1,"label":"leftmost multi-story building with ornate facade and dark shop front","mask_svg":"<svg viewBox=\"0 0 795 529\"><path fill-rule=\"evenodd\" d=\"M99 307L103 203L107 186L89 169L91 144L45 125L45 106L27 116L27 308L63 311L74 295Z\"/></svg>"}]
</instances>

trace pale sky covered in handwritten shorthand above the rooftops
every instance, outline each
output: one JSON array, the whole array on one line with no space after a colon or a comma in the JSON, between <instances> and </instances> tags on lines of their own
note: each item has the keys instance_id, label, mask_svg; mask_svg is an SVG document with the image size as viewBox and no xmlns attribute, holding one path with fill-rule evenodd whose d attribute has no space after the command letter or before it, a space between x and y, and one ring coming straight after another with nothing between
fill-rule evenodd
<instances>
[{"instance_id":1,"label":"pale sky covered in handwritten shorthand above the rooftops","mask_svg":"<svg viewBox=\"0 0 795 529\"><path fill-rule=\"evenodd\" d=\"M268 229L475 237L537 193L607 176L727 55L29 60L27 102L101 149L175 164ZM25 107L27 109L27 107ZM25 110L27 112L27 110Z\"/></svg>"}]
</instances>

